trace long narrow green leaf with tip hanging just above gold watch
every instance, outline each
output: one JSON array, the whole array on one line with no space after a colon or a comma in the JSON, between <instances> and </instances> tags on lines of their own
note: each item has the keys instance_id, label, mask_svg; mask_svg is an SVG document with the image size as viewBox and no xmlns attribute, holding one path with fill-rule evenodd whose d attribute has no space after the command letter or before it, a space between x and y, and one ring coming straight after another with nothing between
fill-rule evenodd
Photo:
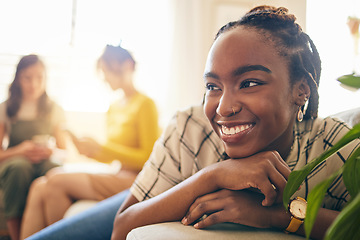
<instances>
[{"instance_id":1,"label":"long narrow green leaf with tip hanging just above gold watch","mask_svg":"<svg viewBox=\"0 0 360 240\"><path fill-rule=\"evenodd\" d=\"M283 204L287 209L290 197L298 190L301 183L309 175L309 173L316 167L319 163L339 151L342 147L347 145L349 142L353 141L356 138L360 137L360 123L356 124L352 129L350 129L347 134L345 134L333 147L323 152L319 157L315 158L313 161L306 164L300 170L295 170L290 173L288 182L285 186L283 193Z\"/></svg>"}]
</instances>

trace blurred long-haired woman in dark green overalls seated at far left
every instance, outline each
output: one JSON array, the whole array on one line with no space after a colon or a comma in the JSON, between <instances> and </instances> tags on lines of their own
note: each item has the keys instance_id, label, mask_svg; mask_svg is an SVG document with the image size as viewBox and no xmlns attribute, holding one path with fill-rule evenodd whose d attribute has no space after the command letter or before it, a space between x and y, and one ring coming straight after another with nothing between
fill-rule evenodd
<instances>
[{"instance_id":1,"label":"blurred long-haired woman in dark green overalls seated at far left","mask_svg":"<svg viewBox=\"0 0 360 240\"><path fill-rule=\"evenodd\" d=\"M64 112L45 90L44 62L37 55L20 59L8 99L0 104L0 188L11 239L20 223L31 182L58 166L49 160L51 138L65 148Z\"/></svg>"}]
</instances>

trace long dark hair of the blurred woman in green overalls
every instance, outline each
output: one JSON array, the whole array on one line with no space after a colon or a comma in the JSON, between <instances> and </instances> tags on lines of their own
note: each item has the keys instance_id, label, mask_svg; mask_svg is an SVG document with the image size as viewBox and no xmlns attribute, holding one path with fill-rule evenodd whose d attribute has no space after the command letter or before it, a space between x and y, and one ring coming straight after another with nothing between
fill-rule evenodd
<instances>
[{"instance_id":1,"label":"long dark hair of the blurred woman in green overalls","mask_svg":"<svg viewBox=\"0 0 360 240\"><path fill-rule=\"evenodd\" d=\"M24 69L37 63L40 63L45 68L45 64L39 56L31 54L23 56L16 67L14 80L9 87L9 97L6 100L6 113L10 119L16 117L21 105L22 91L20 87L20 74ZM51 101L46 91L44 91L38 100L38 116L45 117L50 112L51 107Z\"/></svg>"}]
</instances>

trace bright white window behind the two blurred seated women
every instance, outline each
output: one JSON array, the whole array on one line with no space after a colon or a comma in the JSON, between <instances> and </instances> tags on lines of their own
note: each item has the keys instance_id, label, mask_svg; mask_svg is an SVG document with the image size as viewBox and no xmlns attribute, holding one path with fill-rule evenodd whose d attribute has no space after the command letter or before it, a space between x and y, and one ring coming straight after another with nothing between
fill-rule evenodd
<instances>
[{"instance_id":1,"label":"bright white window behind the two blurred seated women","mask_svg":"<svg viewBox=\"0 0 360 240\"><path fill-rule=\"evenodd\" d=\"M160 105L170 49L167 0L12 0L0 2L0 101L21 55L41 55L48 92L69 111L104 112L113 94L96 74L106 44L129 49L135 84ZM165 84L164 84L165 83Z\"/></svg>"}]
</instances>

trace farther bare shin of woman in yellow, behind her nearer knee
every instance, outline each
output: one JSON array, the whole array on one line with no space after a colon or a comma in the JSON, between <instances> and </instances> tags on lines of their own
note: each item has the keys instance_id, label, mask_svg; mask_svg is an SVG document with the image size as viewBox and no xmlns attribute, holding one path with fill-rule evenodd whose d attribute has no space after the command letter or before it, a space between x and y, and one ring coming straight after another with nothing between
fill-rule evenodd
<instances>
[{"instance_id":1,"label":"farther bare shin of woman in yellow, behind her nearer knee","mask_svg":"<svg viewBox=\"0 0 360 240\"><path fill-rule=\"evenodd\" d=\"M46 227L44 212L46 182L46 177L39 177L31 184L21 223L21 239L25 239Z\"/></svg>"}]
</instances>

